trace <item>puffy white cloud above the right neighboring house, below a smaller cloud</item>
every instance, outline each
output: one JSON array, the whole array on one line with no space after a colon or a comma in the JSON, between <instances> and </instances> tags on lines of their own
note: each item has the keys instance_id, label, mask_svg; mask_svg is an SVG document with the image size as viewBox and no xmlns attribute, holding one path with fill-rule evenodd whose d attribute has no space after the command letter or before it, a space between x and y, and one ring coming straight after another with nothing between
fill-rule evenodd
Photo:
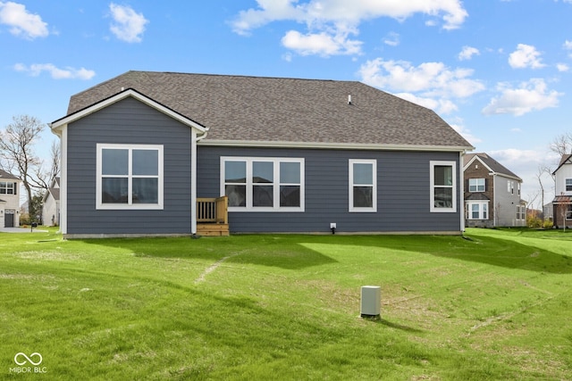
<instances>
[{"instance_id":1,"label":"puffy white cloud above the right neighboring house, below a smaller cloud","mask_svg":"<svg viewBox=\"0 0 572 381\"><path fill-rule=\"evenodd\" d=\"M556 107L559 104L559 96L562 95L555 90L548 90L544 79L530 79L517 88L501 83L497 86L497 90L501 95L492 98L491 103L484 107L485 115L521 116L527 112Z\"/></svg>"}]
</instances>

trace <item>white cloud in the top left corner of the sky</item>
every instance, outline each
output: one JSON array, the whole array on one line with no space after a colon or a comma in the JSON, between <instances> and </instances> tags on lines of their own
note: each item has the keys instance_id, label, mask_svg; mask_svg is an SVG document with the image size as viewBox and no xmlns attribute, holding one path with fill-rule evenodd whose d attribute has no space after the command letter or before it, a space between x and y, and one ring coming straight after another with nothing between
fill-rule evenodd
<instances>
[{"instance_id":1,"label":"white cloud in the top left corner of the sky","mask_svg":"<svg viewBox=\"0 0 572 381\"><path fill-rule=\"evenodd\" d=\"M14 36L34 39L46 37L49 32L47 23L38 14L26 10L26 5L13 2L0 2L0 24L10 27Z\"/></svg>"}]
</instances>

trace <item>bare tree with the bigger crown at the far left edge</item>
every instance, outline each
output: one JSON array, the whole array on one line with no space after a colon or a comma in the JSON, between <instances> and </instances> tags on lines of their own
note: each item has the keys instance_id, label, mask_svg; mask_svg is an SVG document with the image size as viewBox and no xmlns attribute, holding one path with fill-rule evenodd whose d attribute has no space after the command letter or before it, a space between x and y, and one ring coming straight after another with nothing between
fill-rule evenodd
<instances>
[{"instance_id":1,"label":"bare tree with the bigger crown at the far left edge","mask_svg":"<svg viewBox=\"0 0 572 381\"><path fill-rule=\"evenodd\" d=\"M44 124L37 118L29 115L13 117L4 131L0 131L0 166L17 171L28 196L29 216L35 219L38 215L32 201L32 188L41 188L41 181L37 174L41 168L41 161L34 153L34 143Z\"/></svg>"}]
</instances>

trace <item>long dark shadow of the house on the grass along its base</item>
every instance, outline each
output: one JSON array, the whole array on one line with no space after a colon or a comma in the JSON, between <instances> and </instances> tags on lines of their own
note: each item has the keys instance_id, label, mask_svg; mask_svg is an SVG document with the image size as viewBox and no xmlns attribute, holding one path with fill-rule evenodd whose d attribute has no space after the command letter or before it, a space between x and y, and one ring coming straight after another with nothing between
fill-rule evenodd
<instances>
[{"instance_id":1,"label":"long dark shadow of the house on the grass along its base","mask_svg":"<svg viewBox=\"0 0 572 381\"><path fill-rule=\"evenodd\" d=\"M572 257L553 253L546 247L520 244L501 236L229 236L190 239L122 238L84 240L86 244L126 249L136 256L204 259L207 261L248 263L281 269L306 269L336 263L324 251L307 244L348 246L348 255L356 248L383 249L429 254L437 257L473 261L508 269L541 273L571 274ZM547 246L547 247L550 247ZM320 253L322 252L322 253ZM380 255L383 255L380 253Z\"/></svg>"}]
</instances>

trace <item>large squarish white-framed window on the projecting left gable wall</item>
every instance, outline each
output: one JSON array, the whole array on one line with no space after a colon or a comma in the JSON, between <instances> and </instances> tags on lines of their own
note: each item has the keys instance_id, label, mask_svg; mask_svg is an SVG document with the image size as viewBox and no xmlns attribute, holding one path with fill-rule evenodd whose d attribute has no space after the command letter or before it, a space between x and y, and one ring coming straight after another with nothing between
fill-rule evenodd
<instances>
[{"instance_id":1,"label":"large squarish white-framed window on the projecting left gable wall","mask_svg":"<svg viewBox=\"0 0 572 381\"><path fill-rule=\"evenodd\" d=\"M97 209L163 209L163 145L97 144Z\"/></svg>"}]
</instances>

